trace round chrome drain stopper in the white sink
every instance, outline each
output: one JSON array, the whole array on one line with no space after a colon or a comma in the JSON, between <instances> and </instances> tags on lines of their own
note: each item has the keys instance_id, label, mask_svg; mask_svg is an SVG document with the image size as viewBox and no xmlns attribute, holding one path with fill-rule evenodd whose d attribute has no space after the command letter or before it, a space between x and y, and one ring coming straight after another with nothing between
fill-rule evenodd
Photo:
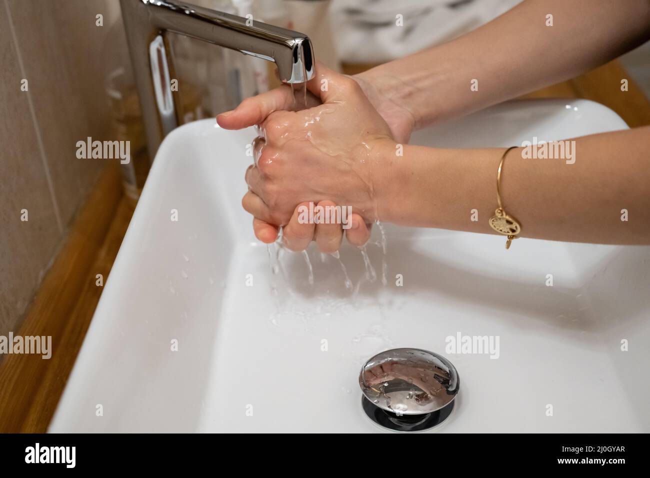
<instances>
[{"instance_id":1,"label":"round chrome drain stopper in the white sink","mask_svg":"<svg viewBox=\"0 0 650 478\"><path fill-rule=\"evenodd\" d=\"M439 425L454 409L460 388L456 367L422 349L392 349L361 368L361 405L375 423L390 430L415 432Z\"/></svg>"}]
</instances>

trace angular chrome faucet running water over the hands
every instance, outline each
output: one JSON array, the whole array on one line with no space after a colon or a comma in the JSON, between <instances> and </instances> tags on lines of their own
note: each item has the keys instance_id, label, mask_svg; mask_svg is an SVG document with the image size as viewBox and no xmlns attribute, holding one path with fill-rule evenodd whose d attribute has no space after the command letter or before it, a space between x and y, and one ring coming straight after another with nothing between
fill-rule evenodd
<instances>
[{"instance_id":1,"label":"angular chrome faucet running water over the hands","mask_svg":"<svg viewBox=\"0 0 650 478\"><path fill-rule=\"evenodd\" d=\"M171 86L175 73L167 32L275 62L285 83L304 83L314 75L313 48L302 33L177 0L120 3L151 161L181 114Z\"/></svg>"}]
</instances>

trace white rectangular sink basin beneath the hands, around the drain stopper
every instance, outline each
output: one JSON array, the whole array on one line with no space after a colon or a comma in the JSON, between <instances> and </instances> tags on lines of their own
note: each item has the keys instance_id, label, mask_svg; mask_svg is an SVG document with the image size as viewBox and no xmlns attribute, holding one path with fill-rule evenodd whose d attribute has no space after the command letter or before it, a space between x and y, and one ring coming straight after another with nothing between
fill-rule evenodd
<instances>
[{"instance_id":1,"label":"white rectangular sink basin beneath the hands, around the drain stopper","mask_svg":"<svg viewBox=\"0 0 650 478\"><path fill-rule=\"evenodd\" d=\"M627 127L567 101L504 103L411 142ZM650 247L517 239L506 251L502 237L386 225L385 258L378 228L367 245L374 282L357 248L341 248L350 290L312 245L310 285L302 254L279 252L274 273L275 246L240 206L254 136L201 120L164 140L49 431L376 432L359 370L396 347L458 370L456 406L434 430L650 431ZM498 338L498 354L450 348L458 336Z\"/></svg>"}]
</instances>

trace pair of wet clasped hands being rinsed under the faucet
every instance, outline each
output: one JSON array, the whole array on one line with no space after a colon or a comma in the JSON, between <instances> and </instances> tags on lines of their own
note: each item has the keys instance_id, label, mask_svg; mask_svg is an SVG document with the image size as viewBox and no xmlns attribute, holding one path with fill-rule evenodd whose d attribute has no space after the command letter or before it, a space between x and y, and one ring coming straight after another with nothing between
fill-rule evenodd
<instances>
[{"instance_id":1,"label":"pair of wet clasped hands being rinsed under the faucet","mask_svg":"<svg viewBox=\"0 0 650 478\"><path fill-rule=\"evenodd\" d=\"M355 80L321 64L307 88L302 111L293 111L291 88L283 85L244 100L217 121L227 129L260 126L242 200L255 218L257 238L275 241L278 226L285 226L283 239L291 250L304 250L315 239L322 252L331 253L343 230L354 245L367 241L368 223L379 217L382 158L395 151L395 140L408 140L413 120L369 79ZM309 202L351 207L353 213L345 225L304 223L300 207L308 209Z\"/></svg>"}]
</instances>

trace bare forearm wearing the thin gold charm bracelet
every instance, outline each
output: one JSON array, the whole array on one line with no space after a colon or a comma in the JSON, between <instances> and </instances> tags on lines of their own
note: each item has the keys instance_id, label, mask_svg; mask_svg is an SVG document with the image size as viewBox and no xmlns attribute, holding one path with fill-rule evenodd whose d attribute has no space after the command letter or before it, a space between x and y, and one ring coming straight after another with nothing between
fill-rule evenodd
<instances>
[{"instance_id":1,"label":"bare forearm wearing the thin gold charm bracelet","mask_svg":"<svg viewBox=\"0 0 650 478\"><path fill-rule=\"evenodd\" d=\"M525 159L522 148L508 153L501 194L508 214L521 223L521 237L650 244L650 127L575 141L573 164ZM398 157L393 148L378 179L379 219L493 233L488 220L497 208L503 151L405 146ZM621 220L623 209L627 221Z\"/></svg>"}]
</instances>

